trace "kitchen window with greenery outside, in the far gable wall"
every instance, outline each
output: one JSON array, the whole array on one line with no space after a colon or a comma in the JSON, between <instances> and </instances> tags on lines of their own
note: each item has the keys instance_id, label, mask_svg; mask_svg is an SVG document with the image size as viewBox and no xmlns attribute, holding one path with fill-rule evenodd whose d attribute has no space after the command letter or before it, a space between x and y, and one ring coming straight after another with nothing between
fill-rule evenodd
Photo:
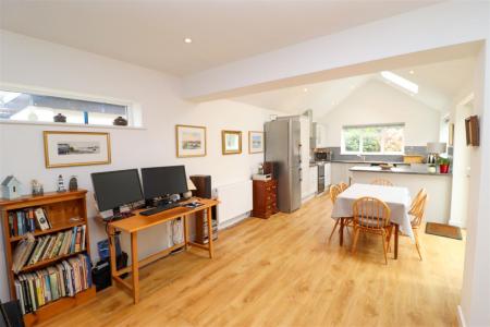
<instances>
[{"instance_id":1,"label":"kitchen window with greenery outside, in the far gable wall","mask_svg":"<svg viewBox=\"0 0 490 327\"><path fill-rule=\"evenodd\" d=\"M404 124L344 126L342 153L364 155L403 154Z\"/></svg>"}]
</instances>

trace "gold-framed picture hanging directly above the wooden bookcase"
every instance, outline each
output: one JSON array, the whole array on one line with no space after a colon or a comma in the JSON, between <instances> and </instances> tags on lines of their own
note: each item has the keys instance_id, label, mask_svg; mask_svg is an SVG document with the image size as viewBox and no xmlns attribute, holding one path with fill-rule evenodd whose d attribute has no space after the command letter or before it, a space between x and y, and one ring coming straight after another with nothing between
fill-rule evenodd
<instances>
[{"instance_id":1,"label":"gold-framed picture hanging directly above the wooden bookcase","mask_svg":"<svg viewBox=\"0 0 490 327\"><path fill-rule=\"evenodd\" d=\"M109 133L45 131L46 168L111 162Z\"/></svg>"}]
</instances>

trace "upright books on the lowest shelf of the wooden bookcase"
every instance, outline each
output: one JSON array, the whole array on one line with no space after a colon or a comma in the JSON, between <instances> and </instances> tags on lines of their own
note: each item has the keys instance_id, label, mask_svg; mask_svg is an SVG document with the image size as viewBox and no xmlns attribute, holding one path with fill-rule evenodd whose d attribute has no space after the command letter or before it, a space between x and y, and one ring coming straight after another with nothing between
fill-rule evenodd
<instances>
[{"instance_id":1,"label":"upright books on the lowest shelf of the wooden bookcase","mask_svg":"<svg viewBox=\"0 0 490 327\"><path fill-rule=\"evenodd\" d=\"M63 261L46 269L21 274L15 278L15 292L22 313L32 313L42 305L91 287L91 263L88 255Z\"/></svg>"}]
</instances>

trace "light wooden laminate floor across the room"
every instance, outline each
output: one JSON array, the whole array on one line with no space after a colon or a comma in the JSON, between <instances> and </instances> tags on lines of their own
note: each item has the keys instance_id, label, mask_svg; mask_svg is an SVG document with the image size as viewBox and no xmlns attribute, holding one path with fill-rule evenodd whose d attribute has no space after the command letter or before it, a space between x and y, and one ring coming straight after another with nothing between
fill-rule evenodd
<instances>
[{"instance_id":1,"label":"light wooden laminate floor across the room","mask_svg":"<svg viewBox=\"0 0 490 327\"><path fill-rule=\"evenodd\" d=\"M216 258L191 250L140 270L140 302L110 288L47 326L455 326L464 242L421 234L424 262L401 238L384 265L381 241L339 246L331 202L247 219L222 231ZM351 239L347 237L346 243ZM393 255L391 254L391 257Z\"/></svg>"}]
</instances>

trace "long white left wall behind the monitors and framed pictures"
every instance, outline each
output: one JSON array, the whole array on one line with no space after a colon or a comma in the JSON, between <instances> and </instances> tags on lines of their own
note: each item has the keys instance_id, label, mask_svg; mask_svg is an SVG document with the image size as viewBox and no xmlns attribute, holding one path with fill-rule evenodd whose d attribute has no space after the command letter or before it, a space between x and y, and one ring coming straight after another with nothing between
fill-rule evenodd
<instances>
[{"instance_id":1,"label":"long white left wall behind the monitors and framed pictures","mask_svg":"<svg viewBox=\"0 0 490 327\"><path fill-rule=\"evenodd\" d=\"M15 174L27 186L32 179L56 189L58 174L78 177L79 187L91 190L90 172L125 168L185 165L187 174L211 174L213 185L248 179L262 155L248 154L248 131L261 131L267 110L234 101L220 100L195 105L182 100L180 81L157 72L130 65L72 48L2 32L0 35L0 82L87 95L131 99L142 105L144 130L83 129L111 134L112 164L105 166L46 169L42 131L62 126L0 123L0 179ZM204 158L175 157L175 124L206 125L208 155ZM243 154L221 155L221 130L243 131ZM91 193L89 217L96 215ZM93 257L96 243L105 238L101 226L89 219ZM167 244L166 229L156 228L139 238L139 253L147 255ZM3 246L3 241L1 242ZM0 258L0 296L7 299L3 255Z\"/></svg>"}]
</instances>

